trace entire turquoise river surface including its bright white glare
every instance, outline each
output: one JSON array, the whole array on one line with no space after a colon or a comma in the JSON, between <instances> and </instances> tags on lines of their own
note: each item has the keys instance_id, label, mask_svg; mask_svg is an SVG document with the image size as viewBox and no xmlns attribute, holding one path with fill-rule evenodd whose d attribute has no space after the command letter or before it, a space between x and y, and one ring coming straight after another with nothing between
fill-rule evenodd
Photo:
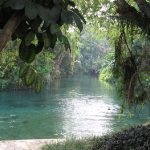
<instances>
[{"instance_id":1,"label":"entire turquoise river surface including its bright white glare","mask_svg":"<svg viewBox=\"0 0 150 150\"><path fill-rule=\"evenodd\" d=\"M0 93L0 139L104 135L149 120L149 107L120 115L115 90L89 76L57 80L40 94ZM121 116L121 118L119 118Z\"/></svg>"}]
</instances>

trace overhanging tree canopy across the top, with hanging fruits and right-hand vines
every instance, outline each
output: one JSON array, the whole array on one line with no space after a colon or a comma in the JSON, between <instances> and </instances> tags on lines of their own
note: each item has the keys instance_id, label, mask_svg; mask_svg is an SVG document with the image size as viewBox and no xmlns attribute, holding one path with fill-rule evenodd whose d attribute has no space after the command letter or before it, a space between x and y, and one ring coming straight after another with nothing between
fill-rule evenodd
<instances>
[{"instance_id":1,"label":"overhanging tree canopy across the top, with hanging fruits and right-hand vines","mask_svg":"<svg viewBox=\"0 0 150 150\"><path fill-rule=\"evenodd\" d=\"M20 39L19 56L27 63L20 70L22 76L27 74L29 64L44 49L52 50L59 42L66 51L71 51L67 31L77 26L81 32L86 20L89 28L96 30L95 34L106 31L107 37L112 39L115 47L114 73L121 71L124 89L130 90L127 95L129 99L132 98L135 85L138 83L143 86L139 72L143 66L146 67L145 63L149 64L145 57L149 56L148 50L140 45L140 54L135 55L133 51L136 45L134 38L150 39L149 0L1 0L0 51L10 39ZM31 69L27 74L28 85L34 81L30 78L33 72L35 70ZM40 84L35 87L40 91ZM148 93L144 90L141 95L145 92Z\"/></svg>"}]
</instances>

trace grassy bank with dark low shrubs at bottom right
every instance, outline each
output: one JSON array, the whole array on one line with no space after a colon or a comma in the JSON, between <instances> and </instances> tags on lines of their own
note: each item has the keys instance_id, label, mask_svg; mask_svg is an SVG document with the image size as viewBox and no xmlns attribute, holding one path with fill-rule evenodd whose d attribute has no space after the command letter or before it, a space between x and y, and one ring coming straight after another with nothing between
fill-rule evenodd
<instances>
[{"instance_id":1,"label":"grassy bank with dark low shrubs at bottom right","mask_svg":"<svg viewBox=\"0 0 150 150\"><path fill-rule=\"evenodd\" d=\"M65 143L45 145L42 150L148 150L150 124L132 127L103 137L69 140Z\"/></svg>"}]
</instances>

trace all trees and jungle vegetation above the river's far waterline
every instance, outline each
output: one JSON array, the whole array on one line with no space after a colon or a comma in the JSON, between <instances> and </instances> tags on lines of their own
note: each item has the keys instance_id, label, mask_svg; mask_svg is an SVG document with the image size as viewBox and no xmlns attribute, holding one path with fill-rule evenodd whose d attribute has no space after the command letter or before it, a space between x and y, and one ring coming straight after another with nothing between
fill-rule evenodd
<instances>
[{"instance_id":1,"label":"all trees and jungle vegetation above the river's far waterline","mask_svg":"<svg viewBox=\"0 0 150 150\"><path fill-rule=\"evenodd\" d=\"M0 88L86 73L149 100L149 0L1 0ZM78 29L77 29L77 28Z\"/></svg>"}]
</instances>

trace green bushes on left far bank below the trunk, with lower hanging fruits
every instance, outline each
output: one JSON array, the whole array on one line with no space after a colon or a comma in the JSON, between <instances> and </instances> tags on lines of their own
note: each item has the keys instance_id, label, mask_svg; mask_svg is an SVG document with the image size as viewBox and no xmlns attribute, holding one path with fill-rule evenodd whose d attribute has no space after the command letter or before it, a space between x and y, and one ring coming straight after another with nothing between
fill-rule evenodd
<instances>
[{"instance_id":1,"label":"green bushes on left far bank below the trunk, with lower hanging fruits","mask_svg":"<svg viewBox=\"0 0 150 150\"><path fill-rule=\"evenodd\" d=\"M54 54L45 51L39 54L32 64L24 63L18 57L19 43L20 41L9 42L1 53L0 90L24 88L26 85L34 87L38 93L43 86L43 80L46 82L47 76L52 72Z\"/></svg>"}]
</instances>

